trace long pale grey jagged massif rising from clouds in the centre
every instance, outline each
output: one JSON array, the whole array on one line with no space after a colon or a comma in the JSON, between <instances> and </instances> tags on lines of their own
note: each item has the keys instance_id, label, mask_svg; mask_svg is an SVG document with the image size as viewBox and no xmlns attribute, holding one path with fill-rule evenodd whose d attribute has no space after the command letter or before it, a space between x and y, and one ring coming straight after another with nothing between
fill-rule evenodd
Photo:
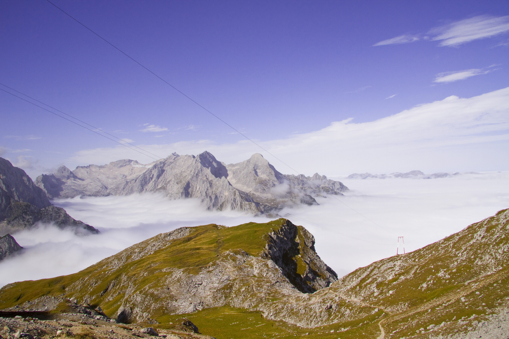
<instances>
[{"instance_id":1,"label":"long pale grey jagged massif rising from clouds in the centre","mask_svg":"<svg viewBox=\"0 0 509 339\"><path fill-rule=\"evenodd\" d=\"M256 153L246 161L226 165L210 152L195 156L173 153L143 165L124 159L107 165L60 167L36 179L50 198L128 195L162 192L171 199L199 198L207 209L270 213L293 204L317 204L314 197L341 194L343 183L315 173L285 175Z\"/></svg>"}]
</instances>

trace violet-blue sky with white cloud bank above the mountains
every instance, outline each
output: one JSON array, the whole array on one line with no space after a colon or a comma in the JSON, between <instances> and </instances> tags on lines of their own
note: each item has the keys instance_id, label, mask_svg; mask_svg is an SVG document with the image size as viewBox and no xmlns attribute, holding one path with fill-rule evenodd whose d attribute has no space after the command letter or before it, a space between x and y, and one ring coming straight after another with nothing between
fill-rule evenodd
<instances>
[{"instance_id":1,"label":"violet-blue sky with white cloud bank above the mountains","mask_svg":"<svg viewBox=\"0 0 509 339\"><path fill-rule=\"evenodd\" d=\"M407 151L413 154L426 148L415 159L397 156L407 154L399 152L404 139L384 146L392 149L385 162L359 159L379 154L373 147L393 135L386 117L450 96L479 97L509 86L506 1L54 4L288 163L301 162L288 147L313 139L314 133L323 135L332 122L353 118L348 124L363 130L371 125L362 124L381 121L376 126L385 134L362 148L371 147L371 153L353 152L346 161L337 160L340 153L321 153L329 163L317 163L316 170L301 167L306 174L509 166L506 93L480 97L482 103L472 99L479 110L465 117L468 121L461 116L441 125L440 114L431 114L433 131L451 127L442 134L421 129L422 135L434 135L437 145L412 145ZM264 153L46 1L3 1L0 25L0 82L5 85L161 157L174 150L215 149L219 160L233 162L250 152ZM457 109L429 107L444 109L448 117ZM150 161L3 92L0 117L0 156L32 176L60 164L72 169L117 157ZM488 117L485 124L491 128L458 132L472 130L477 125L471 122L480 117ZM458 119L461 124L455 125ZM442 135L452 140L460 134L461 141L443 142ZM327 149L337 140L316 147ZM347 138L341 145L359 140ZM314 153L313 147L302 149Z\"/></svg>"}]
</instances>

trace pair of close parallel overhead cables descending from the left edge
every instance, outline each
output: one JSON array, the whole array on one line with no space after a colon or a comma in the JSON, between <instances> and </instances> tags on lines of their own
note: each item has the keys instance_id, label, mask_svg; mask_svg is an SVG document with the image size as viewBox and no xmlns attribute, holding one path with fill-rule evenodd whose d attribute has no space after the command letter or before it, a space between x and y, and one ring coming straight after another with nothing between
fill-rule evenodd
<instances>
[{"instance_id":1,"label":"pair of close parallel overhead cables descending from the left edge","mask_svg":"<svg viewBox=\"0 0 509 339\"><path fill-rule=\"evenodd\" d=\"M61 118L65 119L65 120L67 120L67 121L70 121L70 122L72 122L73 124L75 124L75 125L77 125L77 126L79 126L79 127L82 127L82 128L84 128L84 129L86 129L86 130L88 130L88 131L94 132L95 134L98 134L98 135L100 135L100 136L102 136L102 137L104 137L104 138L106 138L106 139L109 139L109 140L114 141L114 142L116 142L116 143L118 143L118 144L120 144L120 145L123 145L123 146L125 146L125 147L127 147L127 148L129 148L129 149L132 149L132 150L134 150L134 151L136 151L136 152L138 152L138 153L140 153L140 154L142 154L142 155L144 155L144 156L146 156L146 157L149 157L149 158L151 158L151 159L154 159L155 161L162 161L162 163L163 163L163 164L164 164L164 163L167 163L166 158L158 157L158 156L157 156L157 155L155 155L154 153L149 152L149 151L147 151L147 150L145 150L145 149L143 149L143 148L141 148L141 147L135 146L135 145L133 145L133 144L131 144L131 143L128 143L128 142L124 142L121 138L119 138L119 137L117 137L117 136L114 136L114 135L112 135L112 134L109 134L109 133L107 133L107 132L104 132L104 131L102 131L102 130L100 130L100 129L98 129L98 128L96 128L96 127L94 127L94 126L90 125L90 124L88 124L87 122L85 122L85 121L83 121L83 120L80 120L80 119L78 119L78 118L75 118L74 116L72 116L72 115L70 115L70 114L64 113L63 111L61 111L61 110L59 110L59 109L56 109L56 108L54 108L54 107L52 107L52 106L50 106L50 105L48 105L48 104L45 104L45 103L43 103L43 102L41 102L41 101L39 101L39 100L37 100L37 99L35 99L35 98L32 98L32 97L30 97L30 96L27 96L27 95L25 95L25 94L21 93L20 91L18 91L18 90L16 90L16 89L14 89L14 88L12 88L12 87L9 87L9 86L7 86L7 85L5 85L5 84L3 84L3 83L0 83L0 85L5 86L5 87L7 87L7 88L9 88L9 89L11 89L11 90L14 90L14 91L16 91L17 93L19 93L19 94L20 94L20 95L22 95L22 96L25 96L25 97L27 97L27 98L30 98L30 99L34 100L34 101L37 101L37 102L38 102L38 103L40 103L41 105L47 106L47 107L49 107L49 108L51 108L51 109L53 109L53 110L55 110L55 111L58 111L58 112L60 112L60 113L62 113L62 114L65 114L65 115L69 116L69 117L70 117L70 118L72 118L72 119L75 119L75 120L77 120L77 121L80 121L80 122L82 122L83 124L88 125L88 126L90 126L90 127L94 128L95 130L90 129L90 128L88 128L87 126L83 126L83 125L81 125L81 124L78 124L78 122L76 122L76 121L73 121L73 120L71 120L71 119L69 119L69 118L66 118L65 116L62 116L62 115L57 114L57 113L55 113L55 112L53 112L53 111L51 111L51 110L49 110L49 109L47 109L47 108L44 108L44 107L42 107L42 106L40 106L40 105L38 105L38 104L35 104L35 103L31 102L30 100L26 100L26 99L24 99L24 98L22 98L22 97L20 97L20 96L17 96L17 95L15 95L15 94L13 94L13 93L11 93L11 92L9 92L9 91L7 91L7 90L3 89L3 88L0 88L0 90L4 91L5 93L8 93L8 94L10 94L10 95L12 95L12 96L14 96L14 97L16 97L16 98L18 98L18 99L21 99L21 100L23 100L23 101L25 101L25 102L27 102L27 103L29 103L29 104L32 104L32 105L34 105L34 106L36 106L36 107L39 107L39 108L41 108L41 109L43 109L43 110L45 110L45 111L47 111L47 112L49 112L49 113L51 113L51 114L53 114L53 115L56 115L56 116L61 117ZM120 141L118 141L118 140L115 140L115 139L112 139L112 138L110 138L110 137L108 137L108 136L106 136L106 135L104 135L104 134L101 134L101 133L99 133L98 131L103 132L103 133L105 133L105 134L107 134L107 135L109 135L109 136L111 136L111 137L114 137L114 138L116 138L116 139L118 139L118 140L121 140L122 142L120 142ZM134 146L134 147L138 148L139 150L138 150L138 149L134 149L133 147L129 147L127 144L132 145L132 146ZM142 151L143 151L143 152L142 152ZM145 152L145 153L144 153L144 152ZM146 153L148 153L148 154L150 154L150 155L152 155L152 156L155 156L155 157L157 157L157 158L151 157L151 156L147 155ZM172 162L172 163L168 163L168 165L169 165L169 166L174 166L177 170L179 170L179 171L181 171L181 172L183 172L183 173L186 173L186 174L190 175L191 177L192 177L192 176L195 176L196 178L202 179L202 180L203 180L203 181L205 181L205 182L209 182L209 183L211 183L212 185L214 185L214 186L218 187L219 189L223 189L223 190L225 190L225 191L230 191L230 192L232 192L233 194L238 193L238 191L239 191L238 189L236 189L237 191L234 191L233 189L235 189L235 188L234 188L234 187L231 187L231 186L228 186L228 185L227 185L227 186L218 185L218 184L217 184L217 183L215 183L215 182L211 182L211 181L207 180L205 177L201 177L201 176L199 176L197 173L188 172L185 168L183 168L182 166L179 166L179 165L177 165L177 164L175 164L175 163L173 163L173 162ZM352 238L352 239L356 239L356 240L364 241L364 242L370 242L370 243L381 244L381 245L394 245L394 244L379 243L379 242L373 242L373 241L369 241L369 240L364 240L364 239L356 238L356 237L354 237L354 236L351 236L351 235L348 235L348 234L345 234L345 233L342 233L342 232L338 232L338 231L332 230L332 229L327 228L327 227L325 227L325 226L322 226L322 225L320 225L320 224L317 224L317 223L313 223L313 222L307 221L307 220L305 220L305 219L303 219L303 218L297 217L297 215L294 215L294 214L288 213L287 211L285 211L285 210L283 210L283 209L281 209L281 212L286 213L286 215L291 215L291 216L292 216L292 218L295 218L295 219L298 219L298 220L304 221L304 222L306 222L306 223L308 223L308 224L311 224L311 225L314 225L314 226L316 226L316 227L319 227L319 228L325 229L325 230L327 230L327 231L329 231L329 232L337 233L337 234L340 234L340 235L343 235L343 236L346 236L346 237L349 237L349 238Z\"/></svg>"}]
</instances>

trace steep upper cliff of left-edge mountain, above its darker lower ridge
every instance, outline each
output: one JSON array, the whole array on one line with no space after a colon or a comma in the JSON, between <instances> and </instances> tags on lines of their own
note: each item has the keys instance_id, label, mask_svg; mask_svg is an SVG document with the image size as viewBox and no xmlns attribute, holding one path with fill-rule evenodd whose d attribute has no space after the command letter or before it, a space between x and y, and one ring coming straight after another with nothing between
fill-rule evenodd
<instances>
[{"instance_id":1,"label":"steep upper cliff of left-edge mountain, above its darker lower ridge","mask_svg":"<svg viewBox=\"0 0 509 339\"><path fill-rule=\"evenodd\" d=\"M0 221L5 219L7 209L16 201L27 202L38 208L51 205L46 194L25 171L0 158Z\"/></svg>"}]
</instances>

